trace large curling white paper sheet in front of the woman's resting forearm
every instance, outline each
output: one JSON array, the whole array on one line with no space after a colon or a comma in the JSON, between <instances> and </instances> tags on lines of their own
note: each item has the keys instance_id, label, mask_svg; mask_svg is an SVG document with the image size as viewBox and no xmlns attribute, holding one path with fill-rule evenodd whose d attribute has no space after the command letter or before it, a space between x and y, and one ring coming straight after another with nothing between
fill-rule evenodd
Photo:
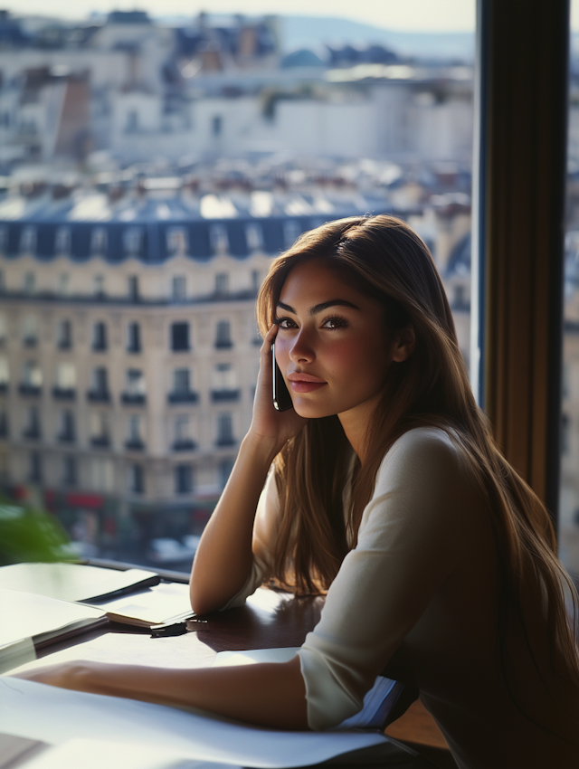
<instances>
[{"instance_id":1,"label":"large curling white paper sheet in front of the woman's resting forearm","mask_svg":"<svg viewBox=\"0 0 579 769\"><path fill-rule=\"evenodd\" d=\"M183 758L281 769L327 761L372 745L384 735L283 732L137 700L69 691L0 678L0 723L8 734L62 745L75 738L136 742Z\"/></svg>"}]
</instances>

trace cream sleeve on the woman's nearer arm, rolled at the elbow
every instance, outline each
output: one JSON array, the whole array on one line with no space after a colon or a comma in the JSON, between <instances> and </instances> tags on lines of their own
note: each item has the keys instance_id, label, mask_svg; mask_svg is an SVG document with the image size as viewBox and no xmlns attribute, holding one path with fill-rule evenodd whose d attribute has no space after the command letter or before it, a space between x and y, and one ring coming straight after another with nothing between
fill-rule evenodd
<instances>
[{"instance_id":1,"label":"cream sleeve on the woman's nearer arm, rolled at the elbow","mask_svg":"<svg viewBox=\"0 0 579 769\"><path fill-rule=\"evenodd\" d=\"M335 726L362 707L455 568L469 486L460 454L439 430L407 432L384 457L357 546L299 650L311 728Z\"/></svg>"}]
</instances>

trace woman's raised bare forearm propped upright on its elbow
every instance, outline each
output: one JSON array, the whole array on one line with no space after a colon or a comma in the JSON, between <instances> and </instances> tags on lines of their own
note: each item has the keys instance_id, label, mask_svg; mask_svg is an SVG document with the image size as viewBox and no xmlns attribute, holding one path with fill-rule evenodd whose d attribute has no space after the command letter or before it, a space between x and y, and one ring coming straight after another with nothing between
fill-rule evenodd
<instances>
[{"instance_id":1,"label":"woman's raised bare forearm propped upright on its elbow","mask_svg":"<svg viewBox=\"0 0 579 769\"><path fill-rule=\"evenodd\" d=\"M252 568L253 521L277 448L246 436L223 494L195 554L191 605L217 611L238 593Z\"/></svg>"}]
</instances>

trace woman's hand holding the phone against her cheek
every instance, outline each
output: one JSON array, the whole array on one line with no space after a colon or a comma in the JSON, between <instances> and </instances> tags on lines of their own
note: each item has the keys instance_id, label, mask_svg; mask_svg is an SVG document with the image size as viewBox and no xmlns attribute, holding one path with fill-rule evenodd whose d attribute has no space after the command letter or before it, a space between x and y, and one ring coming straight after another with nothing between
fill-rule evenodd
<instances>
[{"instance_id":1,"label":"woman's hand holding the phone against her cheek","mask_svg":"<svg viewBox=\"0 0 579 769\"><path fill-rule=\"evenodd\" d=\"M273 455L277 454L285 443L297 435L308 422L293 409L279 412L273 405L271 345L277 333L278 327L273 325L261 345L260 374L253 400L252 424L247 436L257 441L265 441L268 445L271 444Z\"/></svg>"}]
</instances>

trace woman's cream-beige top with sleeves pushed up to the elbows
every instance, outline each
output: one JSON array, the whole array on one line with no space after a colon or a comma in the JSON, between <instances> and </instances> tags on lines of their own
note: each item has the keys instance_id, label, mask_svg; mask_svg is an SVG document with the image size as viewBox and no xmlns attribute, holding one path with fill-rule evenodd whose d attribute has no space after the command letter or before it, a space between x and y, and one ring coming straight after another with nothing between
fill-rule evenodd
<instances>
[{"instance_id":1,"label":"woman's cream-beige top with sleeves pushed up to the elbows","mask_svg":"<svg viewBox=\"0 0 579 769\"><path fill-rule=\"evenodd\" d=\"M254 527L252 574L228 604L267 576L279 504L272 476ZM417 682L462 769L579 767L576 698L554 712L524 649L508 695L497 644L498 574L489 514L460 449L441 430L406 432L382 462L358 543L327 593L320 622L299 650L308 724L335 726L361 707L381 672ZM541 671L549 678L548 671ZM563 694L559 701L562 701ZM569 720L567 720L569 719Z\"/></svg>"}]
</instances>

